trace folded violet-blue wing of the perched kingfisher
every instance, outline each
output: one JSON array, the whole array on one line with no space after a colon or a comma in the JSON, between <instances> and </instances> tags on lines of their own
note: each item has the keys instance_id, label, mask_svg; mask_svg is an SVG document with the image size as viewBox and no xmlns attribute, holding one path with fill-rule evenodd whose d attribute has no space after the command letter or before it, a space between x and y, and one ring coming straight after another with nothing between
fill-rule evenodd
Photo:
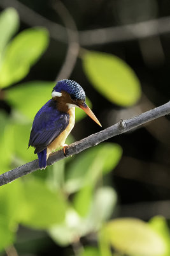
<instances>
[{"instance_id":1,"label":"folded violet-blue wing of the perched kingfisher","mask_svg":"<svg viewBox=\"0 0 170 256\"><path fill-rule=\"evenodd\" d=\"M69 124L69 114L57 110L55 102L48 100L39 109L32 124L29 147L35 147L34 153L39 153L52 143Z\"/></svg>"}]
</instances>

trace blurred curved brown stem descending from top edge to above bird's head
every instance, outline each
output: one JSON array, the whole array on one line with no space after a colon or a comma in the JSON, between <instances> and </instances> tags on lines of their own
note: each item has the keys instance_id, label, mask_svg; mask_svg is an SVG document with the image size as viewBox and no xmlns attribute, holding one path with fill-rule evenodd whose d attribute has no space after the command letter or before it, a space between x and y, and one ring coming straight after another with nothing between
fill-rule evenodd
<instances>
[{"instance_id":1,"label":"blurred curved brown stem descending from top edge to above bird's head","mask_svg":"<svg viewBox=\"0 0 170 256\"><path fill-rule=\"evenodd\" d=\"M55 81L59 81L60 79L69 78L73 68L76 64L76 60L78 58L78 52L80 49L79 40L78 40L78 31L76 28L76 23L74 22L73 17L66 9L64 4L57 0L54 4L54 8L56 12L60 15L60 19L62 19L64 25L66 26L67 31L67 54L60 68L59 74L57 75Z\"/></svg>"}]
</instances>

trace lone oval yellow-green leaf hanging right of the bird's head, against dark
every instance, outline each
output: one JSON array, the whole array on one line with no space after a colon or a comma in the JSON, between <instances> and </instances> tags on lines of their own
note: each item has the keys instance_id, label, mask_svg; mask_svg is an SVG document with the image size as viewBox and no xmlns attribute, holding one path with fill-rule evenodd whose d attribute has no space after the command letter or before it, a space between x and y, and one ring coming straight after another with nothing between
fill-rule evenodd
<instances>
[{"instance_id":1,"label":"lone oval yellow-green leaf hanging right of the bird's head, against dark","mask_svg":"<svg viewBox=\"0 0 170 256\"><path fill-rule=\"evenodd\" d=\"M139 79L117 56L87 51L83 55L83 68L94 88L114 104L131 106L139 100Z\"/></svg>"}]
</instances>

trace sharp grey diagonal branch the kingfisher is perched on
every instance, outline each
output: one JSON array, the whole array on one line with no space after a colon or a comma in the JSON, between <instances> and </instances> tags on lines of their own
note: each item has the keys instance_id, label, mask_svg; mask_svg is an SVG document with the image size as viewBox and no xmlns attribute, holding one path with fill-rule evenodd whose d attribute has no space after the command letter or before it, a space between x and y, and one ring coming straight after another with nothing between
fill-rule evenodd
<instances>
[{"instance_id":1,"label":"sharp grey diagonal branch the kingfisher is perched on","mask_svg":"<svg viewBox=\"0 0 170 256\"><path fill-rule=\"evenodd\" d=\"M124 132L130 131L139 125L145 124L146 122L152 121L160 116L168 115L170 113L170 101L166 104L159 106L158 108L151 109L142 113L141 115L134 116L127 120L120 120L119 123L112 125L103 131L97 132L96 134L92 134L89 137L76 141L67 147L66 153L67 156L73 156L74 154L78 154L81 151L93 147L104 140L108 140L111 137L117 136L118 134L122 134ZM65 156L63 154L63 150L59 150L53 153L47 161L47 165L52 165L53 163L63 159ZM19 177L22 177L28 173L34 172L38 170L38 159L26 163L18 168L15 168L11 171L3 173L0 175L0 186L7 184Z\"/></svg>"}]
</instances>

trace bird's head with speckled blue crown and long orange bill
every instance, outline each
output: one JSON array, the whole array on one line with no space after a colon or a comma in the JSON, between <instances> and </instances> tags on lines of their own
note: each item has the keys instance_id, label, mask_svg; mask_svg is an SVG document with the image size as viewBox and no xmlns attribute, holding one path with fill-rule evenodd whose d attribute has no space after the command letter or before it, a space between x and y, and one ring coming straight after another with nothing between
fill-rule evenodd
<instances>
[{"instance_id":1,"label":"bird's head with speckled blue crown and long orange bill","mask_svg":"<svg viewBox=\"0 0 170 256\"><path fill-rule=\"evenodd\" d=\"M60 80L52 91L52 98L59 103L59 108L78 107L83 109L97 124L100 124L94 113L85 103L85 92L80 84L73 80Z\"/></svg>"}]
</instances>

